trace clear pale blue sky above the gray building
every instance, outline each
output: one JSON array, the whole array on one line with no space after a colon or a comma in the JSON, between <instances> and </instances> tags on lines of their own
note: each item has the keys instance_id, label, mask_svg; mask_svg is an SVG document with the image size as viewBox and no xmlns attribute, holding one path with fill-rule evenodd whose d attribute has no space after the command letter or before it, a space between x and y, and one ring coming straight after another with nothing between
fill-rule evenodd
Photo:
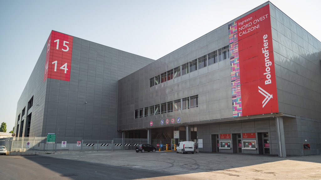
<instances>
[{"instance_id":1,"label":"clear pale blue sky above the gray building","mask_svg":"<svg viewBox=\"0 0 321 180\"><path fill-rule=\"evenodd\" d=\"M0 123L17 102L51 30L159 59L267 0L0 0ZM321 41L320 0L271 0Z\"/></svg>"}]
</instances>

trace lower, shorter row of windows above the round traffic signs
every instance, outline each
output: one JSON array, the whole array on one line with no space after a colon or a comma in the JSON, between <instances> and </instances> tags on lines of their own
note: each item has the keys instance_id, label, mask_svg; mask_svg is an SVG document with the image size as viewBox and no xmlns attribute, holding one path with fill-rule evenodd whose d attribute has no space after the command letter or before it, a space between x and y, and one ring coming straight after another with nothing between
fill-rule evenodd
<instances>
[{"instance_id":1,"label":"lower, shorter row of windows above the round traffic signs","mask_svg":"<svg viewBox=\"0 0 321 180\"><path fill-rule=\"evenodd\" d=\"M135 110L135 119L198 107L198 95Z\"/></svg>"}]
</instances>

